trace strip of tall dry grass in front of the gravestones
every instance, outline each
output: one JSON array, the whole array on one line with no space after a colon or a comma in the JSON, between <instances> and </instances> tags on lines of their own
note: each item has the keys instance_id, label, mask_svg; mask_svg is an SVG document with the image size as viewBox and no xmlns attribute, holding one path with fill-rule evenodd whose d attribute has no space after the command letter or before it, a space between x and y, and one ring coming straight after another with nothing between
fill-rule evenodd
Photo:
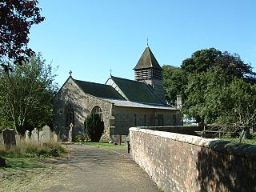
<instances>
[{"instance_id":1,"label":"strip of tall dry grass in front of the gravestones","mask_svg":"<svg viewBox=\"0 0 256 192\"><path fill-rule=\"evenodd\" d=\"M58 142L49 142L41 145L38 142L26 142L22 140L20 145L12 146L8 149L0 145L0 156L4 158L50 157L61 156L66 153L66 148Z\"/></svg>"}]
</instances>

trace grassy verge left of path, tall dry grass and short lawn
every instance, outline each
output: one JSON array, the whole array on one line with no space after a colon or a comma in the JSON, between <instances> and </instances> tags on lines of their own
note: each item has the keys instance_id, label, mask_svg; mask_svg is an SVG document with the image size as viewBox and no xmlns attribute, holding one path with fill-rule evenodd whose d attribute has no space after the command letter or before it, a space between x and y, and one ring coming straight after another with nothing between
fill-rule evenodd
<instances>
[{"instance_id":1,"label":"grassy verge left of path, tall dry grass and short lawn","mask_svg":"<svg viewBox=\"0 0 256 192\"><path fill-rule=\"evenodd\" d=\"M0 192L26 191L33 182L38 182L48 173L58 158L68 153L66 146L58 142L40 145L22 141L18 146L6 149L0 145L0 157L6 159L6 166L0 167Z\"/></svg>"}]
</instances>

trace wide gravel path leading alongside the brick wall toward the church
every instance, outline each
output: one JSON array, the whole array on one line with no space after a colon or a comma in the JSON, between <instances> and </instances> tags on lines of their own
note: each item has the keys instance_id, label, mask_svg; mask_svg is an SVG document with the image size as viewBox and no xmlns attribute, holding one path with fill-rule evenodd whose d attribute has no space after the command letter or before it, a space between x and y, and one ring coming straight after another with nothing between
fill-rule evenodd
<instances>
[{"instance_id":1,"label":"wide gravel path leading alongside the brick wall toward the church","mask_svg":"<svg viewBox=\"0 0 256 192\"><path fill-rule=\"evenodd\" d=\"M91 146L70 145L70 158L56 162L37 182L20 191L160 191L134 161Z\"/></svg>"}]
</instances>

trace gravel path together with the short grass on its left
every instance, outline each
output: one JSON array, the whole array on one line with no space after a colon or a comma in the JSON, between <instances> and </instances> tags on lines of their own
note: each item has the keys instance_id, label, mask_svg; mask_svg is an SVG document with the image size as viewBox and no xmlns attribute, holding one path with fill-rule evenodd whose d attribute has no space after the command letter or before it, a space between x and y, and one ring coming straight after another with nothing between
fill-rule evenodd
<instances>
[{"instance_id":1,"label":"gravel path together with the short grass on its left","mask_svg":"<svg viewBox=\"0 0 256 192\"><path fill-rule=\"evenodd\" d=\"M6 157L7 165L0 168L0 191L160 191L123 144L64 147L70 153L62 157Z\"/></svg>"}]
</instances>

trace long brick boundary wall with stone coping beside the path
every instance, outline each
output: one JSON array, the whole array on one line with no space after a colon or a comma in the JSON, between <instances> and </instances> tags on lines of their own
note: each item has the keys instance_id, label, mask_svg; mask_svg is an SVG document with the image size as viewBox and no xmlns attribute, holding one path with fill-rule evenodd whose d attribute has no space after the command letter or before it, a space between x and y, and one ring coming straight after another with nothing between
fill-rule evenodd
<instances>
[{"instance_id":1,"label":"long brick boundary wall with stone coping beside the path","mask_svg":"<svg viewBox=\"0 0 256 192\"><path fill-rule=\"evenodd\" d=\"M256 191L256 146L130 128L130 149L164 191Z\"/></svg>"}]
</instances>

